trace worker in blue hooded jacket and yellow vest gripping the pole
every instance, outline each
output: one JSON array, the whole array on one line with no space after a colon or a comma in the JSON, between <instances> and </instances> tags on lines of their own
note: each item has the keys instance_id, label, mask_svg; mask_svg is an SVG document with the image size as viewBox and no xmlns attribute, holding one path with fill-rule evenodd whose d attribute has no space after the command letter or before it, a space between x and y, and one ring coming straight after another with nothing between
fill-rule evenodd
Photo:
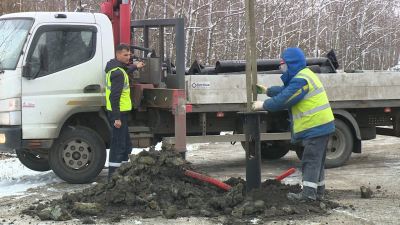
<instances>
[{"instance_id":1,"label":"worker in blue hooded jacket and yellow vest gripping the pole","mask_svg":"<svg viewBox=\"0 0 400 225\"><path fill-rule=\"evenodd\" d=\"M303 142L301 159L303 190L288 193L287 198L298 202L322 199L325 190L324 164L330 133L335 131L334 117L324 87L318 77L306 67L303 52L296 47L282 54L280 68L283 86L265 88L257 84L259 94L270 99L255 101L253 110L276 112L288 109L291 141Z\"/></svg>"}]
</instances>

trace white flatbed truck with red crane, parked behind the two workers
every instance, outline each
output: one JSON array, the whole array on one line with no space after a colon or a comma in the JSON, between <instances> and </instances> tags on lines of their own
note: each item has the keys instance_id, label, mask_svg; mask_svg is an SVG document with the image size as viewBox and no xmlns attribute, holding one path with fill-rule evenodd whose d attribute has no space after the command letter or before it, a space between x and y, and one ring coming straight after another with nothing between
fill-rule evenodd
<instances>
[{"instance_id":1,"label":"white flatbed truck with red crane, parked behind the two workers","mask_svg":"<svg viewBox=\"0 0 400 225\"><path fill-rule=\"evenodd\" d=\"M103 14L26 12L0 17L0 150L15 150L28 168L53 170L70 183L96 177L110 145L104 68L114 58L116 44L130 42L130 32L137 28L144 31L145 51L150 51L148 29L160 29L160 49L158 57L142 58L146 68L132 75L133 146L163 141L184 153L186 143L243 143L237 112L247 107L245 75L185 75L183 19L130 21L125 15L129 1L106 3ZM128 26L128 34L116 30L116 9L121 9L118 26ZM162 39L168 26L176 30L175 73L163 63L168 61ZM341 166L353 152L361 153L361 141L375 138L376 126L394 125L400 133L400 73L318 76L336 126L326 167ZM279 74L259 74L258 82L282 84ZM221 131L233 134L219 135ZM290 143L287 112L263 115L261 132L263 158L278 159L289 150L301 158L302 146Z\"/></svg>"}]
</instances>

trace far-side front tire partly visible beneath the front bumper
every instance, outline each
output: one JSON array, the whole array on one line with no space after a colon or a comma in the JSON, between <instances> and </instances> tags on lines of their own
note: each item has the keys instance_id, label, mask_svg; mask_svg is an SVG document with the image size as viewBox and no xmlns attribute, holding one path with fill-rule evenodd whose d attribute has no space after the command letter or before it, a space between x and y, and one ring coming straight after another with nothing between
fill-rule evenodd
<instances>
[{"instance_id":1,"label":"far-side front tire partly visible beneath the front bumper","mask_svg":"<svg viewBox=\"0 0 400 225\"><path fill-rule=\"evenodd\" d=\"M16 150L19 161L31 170L44 172L51 170L49 160L24 150Z\"/></svg>"}]
</instances>

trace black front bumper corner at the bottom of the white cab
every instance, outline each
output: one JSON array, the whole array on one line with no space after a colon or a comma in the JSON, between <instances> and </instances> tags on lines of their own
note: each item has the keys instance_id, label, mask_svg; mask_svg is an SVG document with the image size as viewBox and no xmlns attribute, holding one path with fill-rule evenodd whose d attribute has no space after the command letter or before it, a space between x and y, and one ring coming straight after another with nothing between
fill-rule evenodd
<instances>
[{"instance_id":1,"label":"black front bumper corner at the bottom of the white cab","mask_svg":"<svg viewBox=\"0 0 400 225\"><path fill-rule=\"evenodd\" d=\"M20 149L21 141L21 126L0 127L0 151L11 152L14 149Z\"/></svg>"}]
</instances>

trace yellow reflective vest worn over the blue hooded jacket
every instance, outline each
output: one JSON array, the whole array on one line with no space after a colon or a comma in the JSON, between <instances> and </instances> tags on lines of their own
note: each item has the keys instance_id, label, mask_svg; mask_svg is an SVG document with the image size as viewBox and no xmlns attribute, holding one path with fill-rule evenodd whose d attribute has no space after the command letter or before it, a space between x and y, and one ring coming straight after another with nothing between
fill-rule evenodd
<instances>
[{"instance_id":1,"label":"yellow reflective vest worn over the blue hooded jacket","mask_svg":"<svg viewBox=\"0 0 400 225\"><path fill-rule=\"evenodd\" d=\"M334 120L328 97L321 81L308 68L294 78L303 78L308 83L308 93L292 106L293 132L299 133Z\"/></svg>"}]
</instances>

